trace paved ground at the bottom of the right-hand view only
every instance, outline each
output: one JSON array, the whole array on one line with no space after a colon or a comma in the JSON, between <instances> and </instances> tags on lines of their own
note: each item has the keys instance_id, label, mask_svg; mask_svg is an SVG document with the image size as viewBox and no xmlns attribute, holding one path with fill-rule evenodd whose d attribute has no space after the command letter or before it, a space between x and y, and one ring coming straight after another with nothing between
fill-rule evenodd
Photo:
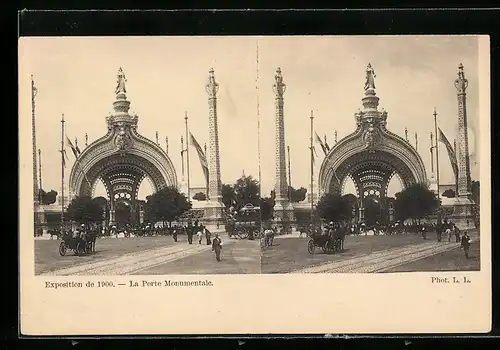
<instances>
[{"instance_id":1,"label":"paved ground at the bottom of the right-hand view only","mask_svg":"<svg viewBox=\"0 0 500 350\"><path fill-rule=\"evenodd\" d=\"M401 272L423 271L417 268L419 266L408 264L450 250L460 251L457 243L437 242L432 235L429 238L424 241L418 235L348 236L344 252L324 254L319 249L311 255L306 248L308 239L283 236L275 240L273 247L263 251L262 273L369 273L399 266ZM478 240L474 234L471 238ZM442 259L445 258L448 255ZM443 261L439 266L446 264ZM428 267L426 271L437 269Z\"/></svg>"}]
</instances>

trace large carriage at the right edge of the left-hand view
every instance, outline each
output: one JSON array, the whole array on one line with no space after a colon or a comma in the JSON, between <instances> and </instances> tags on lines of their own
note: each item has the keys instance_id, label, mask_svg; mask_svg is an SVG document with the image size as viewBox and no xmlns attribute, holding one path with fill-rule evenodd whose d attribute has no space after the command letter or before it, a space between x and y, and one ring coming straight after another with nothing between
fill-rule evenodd
<instances>
[{"instance_id":1,"label":"large carriage at the right edge of the left-hand view","mask_svg":"<svg viewBox=\"0 0 500 350\"><path fill-rule=\"evenodd\" d=\"M260 237L260 231L260 207L247 204L240 210L232 210L228 214L226 232L229 237L238 236L241 239L254 239Z\"/></svg>"}]
</instances>

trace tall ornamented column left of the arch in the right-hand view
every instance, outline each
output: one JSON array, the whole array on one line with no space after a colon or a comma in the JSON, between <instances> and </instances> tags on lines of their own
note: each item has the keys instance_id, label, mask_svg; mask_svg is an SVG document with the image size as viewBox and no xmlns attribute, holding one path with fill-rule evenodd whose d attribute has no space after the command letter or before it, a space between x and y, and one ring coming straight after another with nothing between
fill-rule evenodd
<instances>
[{"instance_id":1,"label":"tall ornamented column left of the arch in the right-hand view","mask_svg":"<svg viewBox=\"0 0 500 350\"><path fill-rule=\"evenodd\" d=\"M281 222L283 226L288 226L293 220L293 207L288 198L288 182L286 174L286 151L285 151L285 120L284 120L284 101L283 95L286 91L286 85L283 83L281 69L278 67L274 76L275 83L273 91L275 94L276 105L276 179L274 191L276 193L274 216L276 221Z\"/></svg>"}]
</instances>

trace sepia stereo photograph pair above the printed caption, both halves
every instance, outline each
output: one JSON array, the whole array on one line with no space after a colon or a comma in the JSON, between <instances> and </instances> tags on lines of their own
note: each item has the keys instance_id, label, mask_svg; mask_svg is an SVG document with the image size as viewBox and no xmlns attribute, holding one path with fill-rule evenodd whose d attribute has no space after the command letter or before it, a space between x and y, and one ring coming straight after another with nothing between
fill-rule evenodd
<instances>
[{"instance_id":1,"label":"sepia stereo photograph pair above the printed caption, both halves","mask_svg":"<svg viewBox=\"0 0 500 350\"><path fill-rule=\"evenodd\" d=\"M37 274L480 269L477 37L28 52Z\"/></svg>"}]
</instances>

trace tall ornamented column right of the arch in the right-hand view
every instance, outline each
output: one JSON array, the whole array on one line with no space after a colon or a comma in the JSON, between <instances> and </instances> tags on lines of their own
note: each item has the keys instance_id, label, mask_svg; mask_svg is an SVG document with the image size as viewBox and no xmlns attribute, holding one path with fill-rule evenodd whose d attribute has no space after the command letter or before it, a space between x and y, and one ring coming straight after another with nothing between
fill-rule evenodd
<instances>
[{"instance_id":1,"label":"tall ornamented column right of the arch in the right-hand view","mask_svg":"<svg viewBox=\"0 0 500 350\"><path fill-rule=\"evenodd\" d=\"M458 66L458 77L455 79L458 99L458 197L454 204L453 219L459 228L467 228L473 223L471 201L471 178L469 159L469 139L467 132L467 87L464 66Z\"/></svg>"}]
</instances>

